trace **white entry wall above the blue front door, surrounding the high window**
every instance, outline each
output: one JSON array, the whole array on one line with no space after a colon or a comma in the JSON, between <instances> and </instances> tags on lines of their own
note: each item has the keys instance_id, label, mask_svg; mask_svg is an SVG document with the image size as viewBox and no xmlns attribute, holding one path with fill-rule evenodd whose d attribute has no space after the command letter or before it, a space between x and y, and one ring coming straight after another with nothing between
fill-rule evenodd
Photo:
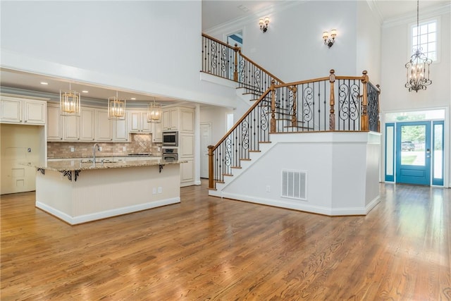
<instances>
[{"instance_id":1,"label":"white entry wall above the blue front door, surrounding the high window","mask_svg":"<svg viewBox=\"0 0 451 301\"><path fill-rule=\"evenodd\" d=\"M424 17L422 17L424 16ZM400 21L384 23L382 29L381 63L381 128L385 128L384 114L390 111L415 111L429 108L451 107L451 5L431 13L421 14L422 18L439 18L440 61L431 65L432 85L426 90L408 92L405 63L409 61L410 25L416 23L416 16ZM449 113L448 113L449 114ZM451 185L450 168L450 116L445 123L445 172L447 183ZM384 152L382 153L384 154Z\"/></svg>"}]
</instances>

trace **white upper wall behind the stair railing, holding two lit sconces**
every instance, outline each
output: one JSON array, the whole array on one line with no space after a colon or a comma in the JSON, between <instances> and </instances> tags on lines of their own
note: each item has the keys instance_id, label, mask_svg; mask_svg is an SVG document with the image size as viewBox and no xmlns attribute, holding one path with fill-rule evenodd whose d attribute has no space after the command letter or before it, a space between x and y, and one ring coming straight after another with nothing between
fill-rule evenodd
<instances>
[{"instance_id":1,"label":"white upper wall behind the stair railing, holding two lit sconces","mask_svg":"<svg viewBox=\"0 0 451 301\"><path fill-rule=\"evenodd\" d=\"M292 3L268 12L266 33L259 29L258 18L206 33L223 40L223 35L243 30L243 54L284 82L328 76L335 69L337 75L353 76L368 70L371 81L379 83L380 21L366 1ZM322 33L332 29L338 36L329 49Z\"/></svg>"}]
</instances>

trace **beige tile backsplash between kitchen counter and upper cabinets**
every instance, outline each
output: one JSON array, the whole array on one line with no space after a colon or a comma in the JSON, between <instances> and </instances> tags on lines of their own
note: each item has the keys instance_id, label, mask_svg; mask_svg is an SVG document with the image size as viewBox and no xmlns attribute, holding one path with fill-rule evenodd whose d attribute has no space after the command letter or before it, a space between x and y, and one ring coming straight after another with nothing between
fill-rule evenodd
<instances>
[{"instance_id":1,"label":"beige tile backsplash between kitchen counter and upper cabinets","mask_svg":"<svg viewBox=\"0 0 451 301\"><path fill-rule=\"evenodd\" d=\"M85 158L92 156L95 142L47 142L47 157ZM153 143L152 135L131 134L130 142L97 142L102 148L96 156L127 156L136 153L161 155L161 143ZM73 147L73 152L71 148ZM159 151L160 147L160 151Z\"/></svg>"}]
</instances>

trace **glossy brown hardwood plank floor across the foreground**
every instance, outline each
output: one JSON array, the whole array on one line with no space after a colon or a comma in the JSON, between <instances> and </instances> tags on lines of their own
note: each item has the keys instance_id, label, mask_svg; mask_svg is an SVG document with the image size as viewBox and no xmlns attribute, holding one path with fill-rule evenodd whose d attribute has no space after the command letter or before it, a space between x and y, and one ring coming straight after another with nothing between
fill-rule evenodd
<instances>
[{"instance_id":1,"label":"glossy brown hardwood plank floor across the foreground","mask_svg":"<svg viewBox=\"0 0 451 301\"><path fill-rule=\"evenodd\" d=\"M451 300L450 190L381 184L367 216L209 197L78 226L1 196L1 300Z\"/></svg>"}]
</instances>

